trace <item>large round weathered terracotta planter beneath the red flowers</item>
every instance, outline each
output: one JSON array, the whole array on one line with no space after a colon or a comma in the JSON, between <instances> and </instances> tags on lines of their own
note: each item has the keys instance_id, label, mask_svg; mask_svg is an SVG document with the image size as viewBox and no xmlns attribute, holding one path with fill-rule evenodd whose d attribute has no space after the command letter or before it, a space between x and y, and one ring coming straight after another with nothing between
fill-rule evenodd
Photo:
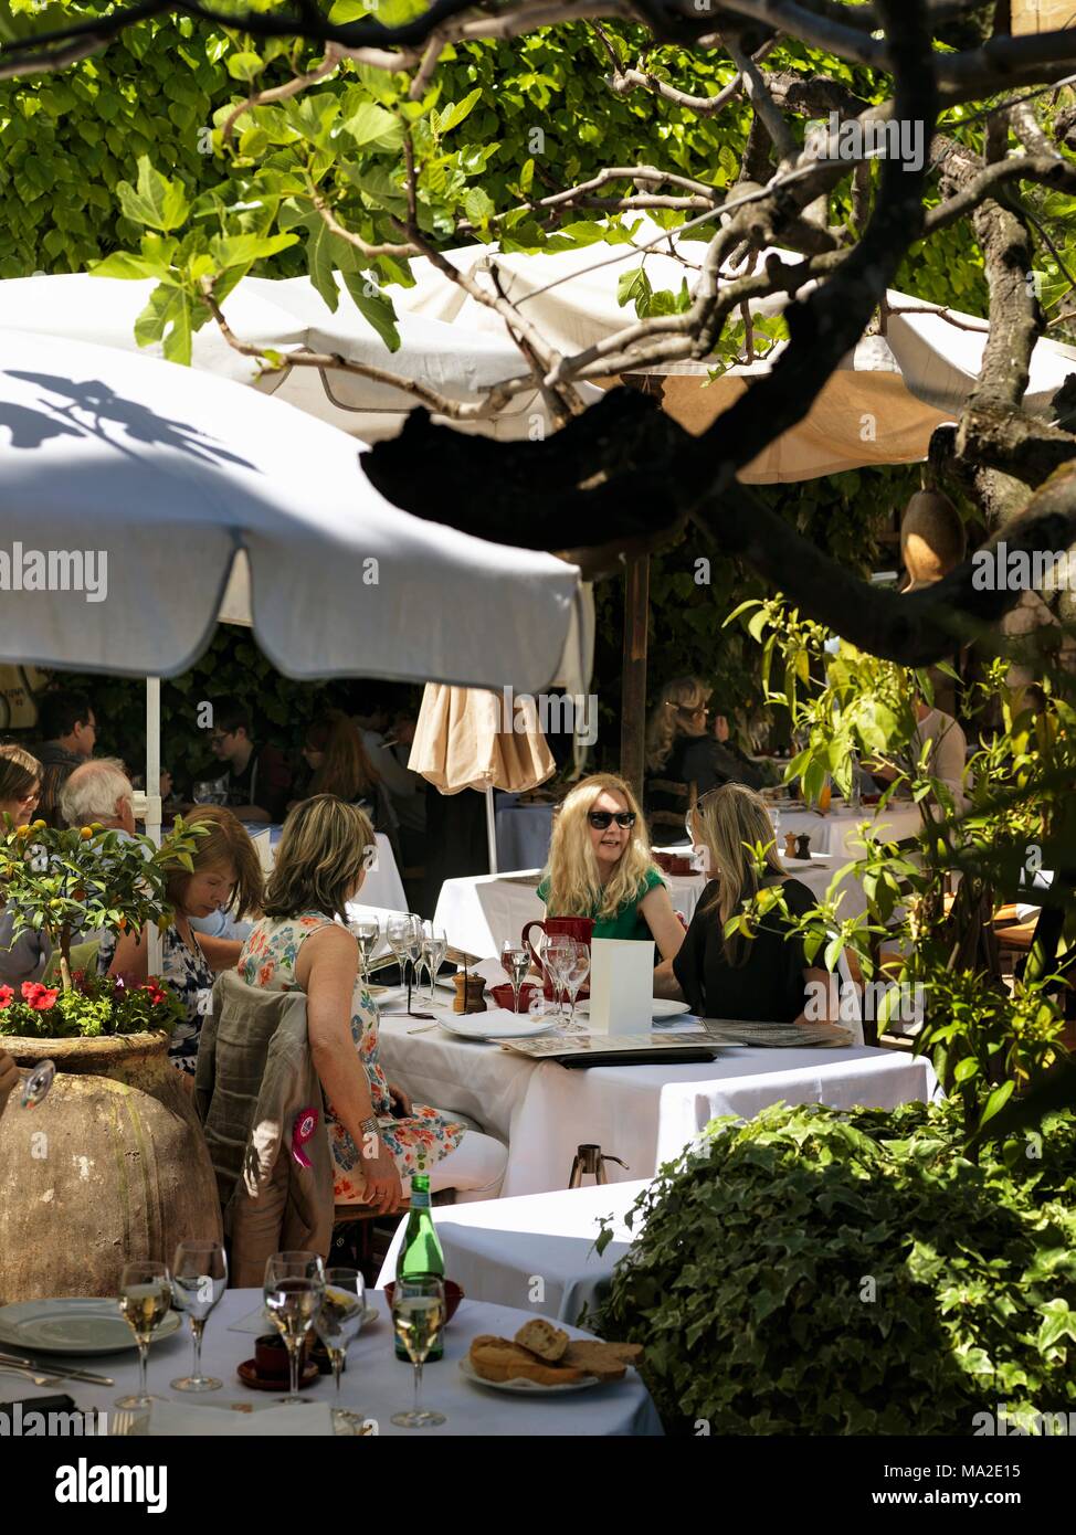
<instances>
[{"instance_id":1,"label":"large round weathered terracotta planter beneath the red flowers","mask_svg":"<svg viewBox=\"0 0 1076 1535\"><path fill-rule=\"evenodd\" d=\"M3 1038L52 1059L37 1108L0 1119L0 1302L114 1296L130 1259L170 1263L183 1237L221 1239L216 1179L167 1035Z\"/></svg>"}]
</instances>

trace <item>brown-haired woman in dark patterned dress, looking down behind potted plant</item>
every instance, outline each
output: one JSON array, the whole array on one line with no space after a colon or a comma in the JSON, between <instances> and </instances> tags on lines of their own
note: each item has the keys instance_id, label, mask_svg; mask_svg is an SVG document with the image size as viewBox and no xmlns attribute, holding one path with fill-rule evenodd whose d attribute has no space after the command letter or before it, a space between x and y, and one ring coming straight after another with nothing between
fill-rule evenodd
<instances>
[{"instance_id":1,"label":"brown-haired woman in dark patterned dress, looking down behind potted plant","mask_svg":"<svg viewBox=\"0 0 1076 1535\"><path fill-rule=\"evenodd\" d=\"M215 972L230 970L243 946L238 939L196 933L190 918L210 916L218 907L235 909L238 916L259 912L262 876L258 849L243 823L224 806L200 804L184 817L184 826L206 830L190 855L193 870L177 864L164 887L173 915L161 935L161 975L178 992L186 1015L172 1033L169 1059L193 1078ZM97 964L109 975L141 982L149 975L147 956L149 942L143 942L143 935L123 933L117 941L115 933L109 933L101 941Z\"/></svg>"}]
</instances>

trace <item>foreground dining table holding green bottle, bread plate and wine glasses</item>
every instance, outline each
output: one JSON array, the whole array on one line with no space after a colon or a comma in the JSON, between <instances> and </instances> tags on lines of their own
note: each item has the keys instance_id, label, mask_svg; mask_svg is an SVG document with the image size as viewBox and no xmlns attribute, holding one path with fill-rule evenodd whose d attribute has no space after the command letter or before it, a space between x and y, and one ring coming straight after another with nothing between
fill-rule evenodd
<instances>
[{"instance_id":1,"label":"foreground dining table holding green bottle, bread plate and wine glasses","mask_svg":"<svg viewBox=\"0 0 1076 1535\"><path fill-rule=\"evenodd\" d=\"M355 1418L376 1424L379 1435L413 1438L422 1443L428 1437L474 1435L477 1438L507 1437L600 1437L600 1435L660 1435L662 1423L646 1386L634 1369L619 1382L608 1382L586 1391L511 1394L467 1378L460 1360L467 1358L471 1340L479 1334L514 1337L523 1323L534 1319L534 1308L520 1309L491 1305L465 1297L445 1328L444 1358L427 1363L422 1372L422 1401L445 1415L441 1426L421 1431L399 1428L391 1421L394 1412L411 1406L411 1366L398 1360L393 1351L393 1325L388 1300L384 1291L368 1291L368 1305L376 1317L362 1328L347 1354L347 1368L341 1380L339 1406ZM573 1337L591 1337L583 1329L568 1326ZM166 1403L155 1428L153 1414L123 1414L114 1409L118 1397L137 1391L138 1358L134 1346L121 1354L61 1355L40 1354L55 1372L81 1368L94 1374L112 1377L112 1386L64 1380L60 1385L34 1386L25 1375L0 1374L0 1406L8 1401L23 1401L23 1414L32 1411L32 1400L68 1394L80 1412L106 1414L109 1432L132 1435L193 1434L213 1435L227 1432L232 1412L252 1414L253 1421L243 1426L258 1434L256 1414L279 1403L282 1388L255 1391L244 1386L236 1371L244 1360L253 1357L255 1339L272 1332L262 1311L259 1289L227 1289L206 1323L203 1368L206 1374L223 1382L219 1391L181 1392L169 1382L187 1374L190 1365L190 1337L187 1328L177 1329L170 1337L160 1339L149 1352L149 1392ZM302 1391L307 1401L325 1408L336 1406L332 1375L321 1375ZM181 1411L183 1409L183 1411ZM302 1409L296 1409L302 1411ZM330 1414L322 1415L325 1420ZM204 1421L204 1428L201 1426ZM100 1420L97 1420L100 1423ZM313 1420L312 1420L313 1421ZM264 1432L290 1429L281 1421L278 1428L267 1420ZM327 1429L332 1432L332 1429Z\"/></svg>"}]
</instances>

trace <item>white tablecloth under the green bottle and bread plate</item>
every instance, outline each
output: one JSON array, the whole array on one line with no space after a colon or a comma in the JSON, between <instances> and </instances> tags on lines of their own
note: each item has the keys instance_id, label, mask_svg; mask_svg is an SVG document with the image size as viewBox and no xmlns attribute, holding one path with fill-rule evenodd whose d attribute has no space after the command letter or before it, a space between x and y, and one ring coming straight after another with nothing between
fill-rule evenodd
<instances>
[{"instance_id":1,"label":"white tablecloth under the green bottle and bread plate","mask_svg":"<svg viewBox=\"0 0 1076 1535\"><path fill-rule=\"evenodd\" d=\"M250 1391L243 1386L235 1371L246 1358L253 1357L253 1332L230 1332L235 1322L244 1320L259 1303L256 1289L229 1289L206 1325L203 1368L206 1374L224 1382L221 1391L204 1395L172 1391L170 1380L186 1375L190 1368L190 1337L187 1328L170 1339L155 1343L149 1355L149 1391L167 1401L226 1408L233 1401L252 1406L273 1406L276 1392ZM379 1292L370 1296L381 1317L364 1329L348 1349L348 1363L341 1383L341 1405L364 1417L375 1418L381 1434L408 1437L422 1443L430 1435L602 1435L602 1434L660 1434L660 1421L654 1405L634 1371L620 1382L594 1386L591 1391L569 1392L556 1398L533 1400L511 1397L503 1391L491 1391L465 1380L459 1372L459 1360L467 1357L471 1339L479 1332L511 1337L534 1315L510 1311L505 1306L484 1305L474 1300L460 1302L445 1334L445 1357L428 1365L422 1378L422 1397L427 1406L437 1408L448 1420L442 1428L398 1429L390 1421L393 1412L411 1406L411 1366L393 1354L393 1329L388 1305ZM266 1328L264 1331L269 1331ZM569 1329L579 1337L586 1334ZM51 1355L54 1357L54 1355ZM55 1355L57 1362L60 1355ZM80 1382L64 1382L61 1386L34 1386L26 1377L0 1375L0 1401L48 1397L66 1392L83 1412L106 1411L114 1415L117 1397L138 1386L138 1358L134 1349L126 1354L94 1355L92 1358L68 1360L95 1374L112 1375L115 1386L89 1386ZM281 1392L282 1395L282 1392ZM302 1392L312 1401L335 1403L332 1375L322 1375Z\"/></svg>"}]
</instances>

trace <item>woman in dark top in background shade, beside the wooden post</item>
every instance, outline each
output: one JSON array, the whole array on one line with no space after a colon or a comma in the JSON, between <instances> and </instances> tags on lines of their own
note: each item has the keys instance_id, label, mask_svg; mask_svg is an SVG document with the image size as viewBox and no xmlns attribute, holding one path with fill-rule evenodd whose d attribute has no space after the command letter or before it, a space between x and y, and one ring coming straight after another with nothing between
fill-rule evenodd
<instances>
[{"instance_id":1,"label":"woman in dark top in background shade, beside the wooden post","mask_svg":"<svg viewBox=\"0 0 1076 1535\"><path fill-rule=\"evenodd\" d=\"M646 815L658 824L675 815L683 815L688 801L677 798L668 789L655 787L655 781L694 784L701 800L711 789L723 783L746 783L752 789L761 786L760 769L731 741L728 725L720 735L709 732L709 697L712 689L698 677L677 677L654 708L646 726ZM674 823L675 824L675 823ZM683 841L682 834L668 838Z\"/></svg>"}]
</instances>

